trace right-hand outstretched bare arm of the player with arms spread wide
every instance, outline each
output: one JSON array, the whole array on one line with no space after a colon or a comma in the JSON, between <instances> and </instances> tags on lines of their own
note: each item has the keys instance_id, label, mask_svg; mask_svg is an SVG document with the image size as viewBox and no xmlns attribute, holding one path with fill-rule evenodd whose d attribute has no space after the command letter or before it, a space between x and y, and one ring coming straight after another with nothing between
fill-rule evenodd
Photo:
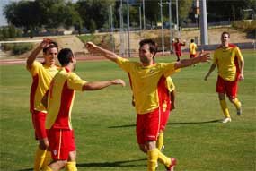
<instances>
[{"instance_id":1,"label":"right-hand outstretched bare arm of the player with arms spread wide","mask_svg":"<svg viewBox=\"0 0 256 171\"><path fill-rule=\"evenodd\" d=\"M179 68L184 68L184 67L190 66L192 64L204 63L204 62L209 62L209 61L210 61L209 53L200 52L197 57L194 57L191 59L182 59L181 61L176 62L176 64L174 65L174 68L179 69Z\"/></svg>"}]
</instances>

